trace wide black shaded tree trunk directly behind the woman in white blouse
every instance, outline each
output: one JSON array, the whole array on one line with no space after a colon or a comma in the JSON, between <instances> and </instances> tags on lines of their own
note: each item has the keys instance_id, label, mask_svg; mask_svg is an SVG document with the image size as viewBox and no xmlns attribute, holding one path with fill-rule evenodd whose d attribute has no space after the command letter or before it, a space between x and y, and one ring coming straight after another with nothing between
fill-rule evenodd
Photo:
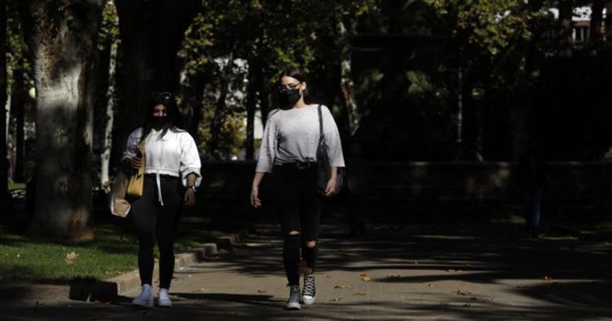
<instances>
[{"instance_id":1,"label":"wide black shaded tree trunk directly behind the woman in white blouse","mask_svg":"<svg viewBox=\"0 0 612 321\"><path fill-rule=\"evenodd\" d=\"M123 54L122 99L119 102L114 154L144 120L151 91L177 92L177 51L185 29L198 14L200 0L115 0Z\"/></svg>"}]
</instances>

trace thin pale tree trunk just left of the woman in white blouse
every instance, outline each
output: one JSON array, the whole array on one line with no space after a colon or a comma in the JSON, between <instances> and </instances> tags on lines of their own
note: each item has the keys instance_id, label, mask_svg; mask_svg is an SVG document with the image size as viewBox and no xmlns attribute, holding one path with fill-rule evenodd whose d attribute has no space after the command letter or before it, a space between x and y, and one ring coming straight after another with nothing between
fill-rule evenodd
<instances>
[{"instance_id":1,"label":"thin pale tree trunk just left of the woman in white blouse","mask_svg":"<svg viewBox=\"0 0 612 321\"><path fill-rule=\"evenodd\" d=\"M107 188L110 182L108 168L111 160L111 147L113 147L113 121L115 107L115 70L117 65L117 48L119 42L111 44L108 62L108 89L106 90L106 114L104 125L104 136L102 140L102 155L100 155L100 183L102 188Z\"/></svg>"}]
</instances>

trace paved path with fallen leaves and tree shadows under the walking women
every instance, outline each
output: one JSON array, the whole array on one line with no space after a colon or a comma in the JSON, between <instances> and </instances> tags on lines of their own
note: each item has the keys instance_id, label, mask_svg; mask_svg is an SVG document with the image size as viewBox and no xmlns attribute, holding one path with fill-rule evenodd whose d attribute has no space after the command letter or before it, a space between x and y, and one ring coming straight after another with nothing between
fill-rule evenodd
<instances>
[{"instance_id":1,"label":"paved path with fallen leaves and tree shadows under the walking women","mask_svg":"<svg viewBox=\"0 0 612 321\"><path fill-rule=\"evenodd\" d=\"M171 309L132 308L126 293L115 304L5 304L0 320L612 319L609 243L501 224L373 228L348 239L323 226L316 302L302 311L282 310L282 243L260 225L233 252L177 270Z\"/></svg>"}]
</instances>

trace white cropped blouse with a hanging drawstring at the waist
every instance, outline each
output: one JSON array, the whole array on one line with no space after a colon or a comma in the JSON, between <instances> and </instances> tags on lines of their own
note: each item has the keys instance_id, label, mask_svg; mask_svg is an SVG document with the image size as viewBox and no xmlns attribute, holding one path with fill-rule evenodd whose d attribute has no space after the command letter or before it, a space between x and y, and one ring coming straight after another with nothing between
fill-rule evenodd
<instances>
[{"instance_id":1,"label":"white cropped blouse with a hanging drawstring at the waist","mask_svg":"<svg viewBox=\"0 0 612 321\"><path fill-rule=\"evenodd\" d=\"M137 128L127 138L123 160L136 156L142 132L142 127ZM160 133L162 131L152 129L146 138L144 173L156 174L157 192L160 203L163 205L159 175L181 177L183 186L187 187L187 175L194 173L196 174L195 186L197 187L200 186L202 181L200 173L202 165L198 147L187 131L168 130L162 138L159 138Z\"/></svg>"}]
</instances>

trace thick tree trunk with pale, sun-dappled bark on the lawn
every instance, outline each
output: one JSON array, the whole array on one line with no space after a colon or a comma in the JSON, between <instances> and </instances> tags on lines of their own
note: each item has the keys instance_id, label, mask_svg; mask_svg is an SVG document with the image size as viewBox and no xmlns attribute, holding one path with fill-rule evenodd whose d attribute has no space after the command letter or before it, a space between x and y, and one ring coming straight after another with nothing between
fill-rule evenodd
<instances>
[{"instance_id":1,"label":"thick tree trunk with pale, sun-dappled bark on the lawn","mask_svg":"<svg viewBox=\"0 0 612 321\"><path fill-rule=\"evenodd\" d=\"M70 240L94 237L90 220L92 108L86 105L86 90L104 2L21 2L37 88L31 235Z\"/></svg>"}]
</instances>

